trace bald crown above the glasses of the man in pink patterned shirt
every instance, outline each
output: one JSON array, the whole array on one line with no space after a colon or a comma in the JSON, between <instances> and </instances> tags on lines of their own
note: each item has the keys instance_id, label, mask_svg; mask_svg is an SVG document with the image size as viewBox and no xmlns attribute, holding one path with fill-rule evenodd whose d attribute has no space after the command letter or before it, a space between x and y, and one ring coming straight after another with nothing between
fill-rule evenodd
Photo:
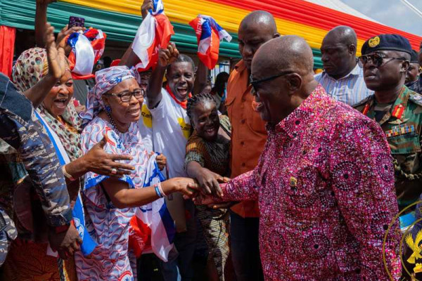
<instances>
[{"instance_id":1,"label":"bald crown above the glasses of the man in pink patterned shirt","mask_svg":"<svg viewBox=\"0 0 422 281\"><path fill-rule=\"evenodd\" d=\"M262 78L291 71L306 76L313 73L314 56L305 39L286 35L268 41L252 60L253 77Z\"/></svg>"}]
</instances>

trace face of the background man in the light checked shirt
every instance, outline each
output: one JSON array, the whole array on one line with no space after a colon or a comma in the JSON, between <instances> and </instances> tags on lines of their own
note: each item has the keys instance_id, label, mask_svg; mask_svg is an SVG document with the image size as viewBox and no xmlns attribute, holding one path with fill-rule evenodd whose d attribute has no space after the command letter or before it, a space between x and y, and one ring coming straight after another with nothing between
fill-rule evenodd
<instances>
[{"instance_id":1,"label":"face of the background man in the light checked shirt","mask_svg":"<svg viewBox=\"0 0 422 281\"><path fill-rule=\"evenodd\" d=\"M349 47L340 43L337 38L326 37L321 45L321 60L325 72L339 79L350 69L351 56L354 56Z\"/></svg>"}]
</instances>

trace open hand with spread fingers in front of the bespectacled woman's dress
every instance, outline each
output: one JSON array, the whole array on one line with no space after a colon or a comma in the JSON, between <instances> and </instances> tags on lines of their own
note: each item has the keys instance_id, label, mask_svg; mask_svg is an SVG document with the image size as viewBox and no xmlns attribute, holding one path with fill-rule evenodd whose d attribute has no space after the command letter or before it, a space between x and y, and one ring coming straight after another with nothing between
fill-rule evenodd
<instances>
[{"instance_id":1,"label":"open hand with spread fingers in front of the bespectacled woman's dress","mask_svg":"<svg viewBox=\"0 0 422 281\"><path fill-rule=\"evenodd\" d=\"M108 154L104 151L104 146L106 146L107 141L108 138L104 135L103 139L83 156L89 171L95 174L118 178L131 174L135 169L134 166L117 161L132 160L132 156Z\"/></svg>"}]
</instances>

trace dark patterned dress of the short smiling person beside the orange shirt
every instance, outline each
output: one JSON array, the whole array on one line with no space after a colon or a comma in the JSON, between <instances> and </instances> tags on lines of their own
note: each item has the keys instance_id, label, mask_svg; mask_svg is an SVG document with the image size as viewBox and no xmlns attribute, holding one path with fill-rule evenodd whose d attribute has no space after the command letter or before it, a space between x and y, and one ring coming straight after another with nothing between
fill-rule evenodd
<instances>
[{"instance_id":1,"label":"dark patterned dress of the short smiling person beside the orange shirt","mask_svg":"<svg viewBox=\"0 0 422 281\"><path fill-rule=\"evenodd\" d=\"M220 115L220 126L231 135L229 117ZM219 175L230 176L229 152L230 139L220 138L209 142L193 131L186 144L185 166L195 161ZM215 210L205 206L197 206L196 209L208 246L208 259L215 263L219 280L224 281L224 268L229 256L229 212L227 209Z\"/></svg>"}]
</instances>

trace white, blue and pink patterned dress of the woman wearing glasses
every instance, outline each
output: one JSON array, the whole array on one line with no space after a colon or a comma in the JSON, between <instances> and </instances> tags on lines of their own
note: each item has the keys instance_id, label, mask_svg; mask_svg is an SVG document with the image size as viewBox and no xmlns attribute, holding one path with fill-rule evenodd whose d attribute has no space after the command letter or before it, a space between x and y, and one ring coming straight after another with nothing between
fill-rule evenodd
<instances>
[{"instance_id":1,"label":"white, blue and pink patterned dress of the woman wearing glasses","mask_svg":"<svg viewBox=\"0 0 422 281\"><path fill-rule=\"evenodd\" d=\"M86 153L103 135L108 136L104 150L110 154L129 154L135 167L132 174L120 178L129 188L142 188L148 162L148 152L141 141L137 123L132 123L127 133L113 131L113 126L100 117L95 117L82 132L82 150ZM135 208L117 209L108 199L101 182L107 176L89 172L85 176L82 198L86 209L87 229L98 243L91 258L85 258L80 251L75 254L77 275L84 280L134 280L129 263L128 240L129 221Z\"/></svg>"}]
</instances>

